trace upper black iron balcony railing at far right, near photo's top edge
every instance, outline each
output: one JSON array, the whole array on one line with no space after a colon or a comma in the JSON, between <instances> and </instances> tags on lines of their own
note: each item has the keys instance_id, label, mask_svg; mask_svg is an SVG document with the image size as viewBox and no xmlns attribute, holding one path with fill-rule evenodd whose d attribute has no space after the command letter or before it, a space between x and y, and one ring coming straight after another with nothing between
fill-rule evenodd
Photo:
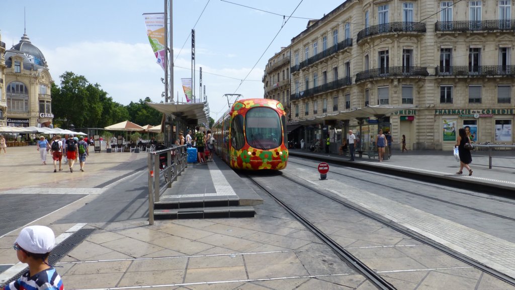
<instances>
[{"instance_id":1,"label":"upper black iron balcony railing at far right, near photo's top edge","mask_svg":"<svg viewBox=\"0 0 515 290\"><path fill-rule=\"evenodd\" d=\"M476 20L476 21L437 21L435 31L513 31L515 30L514 19L502 20Z\"/></svg>"}]
</instances>

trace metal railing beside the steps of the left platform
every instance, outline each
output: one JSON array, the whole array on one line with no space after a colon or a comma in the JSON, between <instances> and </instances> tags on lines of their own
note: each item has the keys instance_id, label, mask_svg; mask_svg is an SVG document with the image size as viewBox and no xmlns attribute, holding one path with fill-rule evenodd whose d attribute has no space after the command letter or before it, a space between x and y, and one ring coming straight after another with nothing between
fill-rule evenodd
<instances>
[{"instance_id":1,"label":"metal railing beside the steps of the left platform","mask_svg":"<svg viewBox=\"0 0 515 290\"><path fill-rule=\"evenodd\" d=\"M148 224L154 224L154 203L187 167L186 146L148 152Z\"/></svg>"}]
</instances>

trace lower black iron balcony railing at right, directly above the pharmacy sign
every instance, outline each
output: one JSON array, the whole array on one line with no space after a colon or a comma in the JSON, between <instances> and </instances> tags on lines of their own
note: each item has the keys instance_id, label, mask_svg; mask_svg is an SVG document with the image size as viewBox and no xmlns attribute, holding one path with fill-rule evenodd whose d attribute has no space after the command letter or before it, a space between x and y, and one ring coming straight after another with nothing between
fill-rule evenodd
<instances>
[{"instance_id":1,"label":"lower black iron balcony railing at right, directly above the pharmacy sign","mask_svg":"<svg viewBox=\"0 0 515 290\"><path fill-rule=\"evenodd\" d=\"M436 67L438 76L515 76L515 66Z\"/></svg>"}]
</instances>

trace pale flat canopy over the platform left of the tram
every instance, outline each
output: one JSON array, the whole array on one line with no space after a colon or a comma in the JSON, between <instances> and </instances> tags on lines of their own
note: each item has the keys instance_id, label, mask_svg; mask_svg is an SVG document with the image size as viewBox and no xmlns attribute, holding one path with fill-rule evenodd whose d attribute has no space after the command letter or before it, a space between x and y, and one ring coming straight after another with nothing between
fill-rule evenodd
<instances>
[{"instance_id":1,"label":"pale flat canopy over the platform left of the tram","mask_svg":"<svg viewBox=\"0 0 515 290\"><path fill-rule=\"evenodd\" d=\"M197 124L209 124L208 114L206 112L207 103L151 103L146 104L164 114L178 114L186 119L197 119Z\"/></svg>"}]
</instances>

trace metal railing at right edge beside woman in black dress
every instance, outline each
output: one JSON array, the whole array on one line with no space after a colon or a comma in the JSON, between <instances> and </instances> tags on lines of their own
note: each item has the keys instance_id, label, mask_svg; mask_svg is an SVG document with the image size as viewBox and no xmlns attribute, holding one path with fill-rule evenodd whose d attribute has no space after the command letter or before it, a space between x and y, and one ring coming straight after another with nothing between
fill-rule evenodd
<instances>
[{"instance_id":1,"label":"metal railing at right edge beside woman in black dress","mask_svg":"<svg viewBox=\"0 0 515 290\"><path fill-rule=\"evenodd\" d=\"M492 144L486 142L485 144L474 143L474 150L471 152L473 157L488 157L488 168L492 167L499 168L512 168L515 169L515 146L504 145L504 144ZM481 154L484 153L485 155ZM488 155L486 155L488 154ZM493 165L494 158L496 165ZM480 158L473 158L477 160ZM485 165L480 163L472 163L475 165Z\"/></svg>"}]
</instances>

